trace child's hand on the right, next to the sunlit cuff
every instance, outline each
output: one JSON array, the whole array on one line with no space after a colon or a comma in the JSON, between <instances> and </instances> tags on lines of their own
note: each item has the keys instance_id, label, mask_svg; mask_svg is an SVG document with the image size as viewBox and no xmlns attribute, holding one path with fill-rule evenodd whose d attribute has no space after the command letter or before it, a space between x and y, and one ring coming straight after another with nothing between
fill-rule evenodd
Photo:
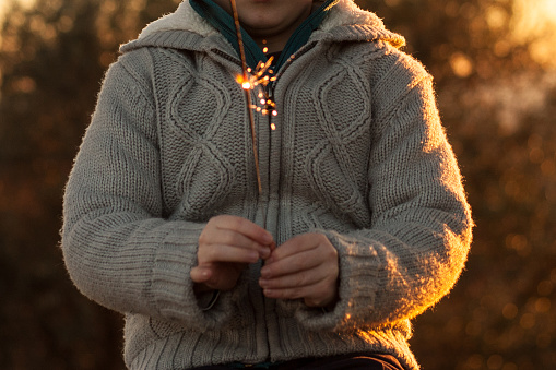
<instances>
[{"instance_id":1,"label":"child's hand on the right, next to the sunlit cuff","mask_svg":"<svg viewBox=\"0 0 556 370\"><path fill-rule=\"evenodd\" d=\"M309 307L338 301L338 251L322 234L304 234L276 248L261 270L264 295L304 299Z\"/></svg>"}]
</instances>

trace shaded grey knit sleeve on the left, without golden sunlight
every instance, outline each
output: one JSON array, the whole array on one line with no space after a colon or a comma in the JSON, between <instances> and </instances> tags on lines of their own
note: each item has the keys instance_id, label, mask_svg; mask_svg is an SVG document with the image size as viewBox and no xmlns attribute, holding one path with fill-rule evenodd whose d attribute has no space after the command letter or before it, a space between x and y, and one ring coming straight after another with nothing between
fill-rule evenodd
<instances>
[{"instance_id":1,"label":"shaded grey knit sleeve on the left, without golden sunlight","mask_svg":"<svg viewBox=\"0 0 556 370\"><path fill-rule=\"evenodd\" d=\"M163 218L152 87L133 65L140 58L128 57L107 72L67 184L64 262L76 287L109 309L216 327L229 301L202 311L189 277L205 225Z\"/></svg>"}]
</instances>

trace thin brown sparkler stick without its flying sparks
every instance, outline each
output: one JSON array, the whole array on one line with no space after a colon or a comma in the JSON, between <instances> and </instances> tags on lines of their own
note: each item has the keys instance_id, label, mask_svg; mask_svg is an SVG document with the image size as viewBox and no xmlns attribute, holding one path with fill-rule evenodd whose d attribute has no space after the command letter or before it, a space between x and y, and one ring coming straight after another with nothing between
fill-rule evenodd
<instances>
[{"instance_id":1,"label":"thin brown sparkler stick without its flying sparks","mask_svg":"<svg viewBox=\"0 0 556 370\"><path fill-rule=\"evenodd\" d=\"M245 58L245 49L244 49L244 39L241 37L241 26L239 25L239 15L237 14L237 7L236 7L236 0L229 0L229 4L232 5L232 13L234 15L234 24L236 26L236 35L237 35L237 44L239 45L239 56L241 58L241 72L244 74L241 80L241 87L245 92L245 98L247 100L247 110L249 114L249 124L251 127L251 141L252 141L252 148L253 148L253 160L255 160L255 170L257 174L257 187L259 190L259 204L261 207L261 214L262 214L262 227L267 228L267 212L264 207L262 206L261 198L262 198L262 183L261 183L261 172L259 168L259 150L257 145L257 132L255 130L255 118L253 112L251 109L251 82L250 79L247 76L247 61Z\"/></svg>"}]
</instances>

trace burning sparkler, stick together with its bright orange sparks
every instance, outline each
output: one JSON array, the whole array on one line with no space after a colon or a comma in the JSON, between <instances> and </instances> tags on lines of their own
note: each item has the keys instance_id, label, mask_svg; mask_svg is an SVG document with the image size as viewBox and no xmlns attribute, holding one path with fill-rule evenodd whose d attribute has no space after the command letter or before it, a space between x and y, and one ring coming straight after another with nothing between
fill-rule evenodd
<instances>
[{"instance_id":1,"label":"burning sparkler, stick together with its bright orange sparks","mask_svg":"<svg viewBox=\"0 0 556 370\"><path fill-rule=\"evenodd\" d=\"M269 60L263 63L259 62L257 65L256 72L251 74L251 69L247 67L247 61L245 57L245 48L244 48L244 39L241 36L241 26L239 24L239 15L237 13L237 5L236 0L229 0L229 4L232 7L232 14L234 16L234 24L236 26L236 35L237 35L237 44L239 46L239 56L241 58L241 72L242 75L237 77L237 82L241 85L241 88L245 92L245 98L247 100L247 108L249 112L249 124L251 128L251 141L252 141L252 148L253 148L253 160L255 160L255 170L257 175L257 188L259 190L259 200L262 198L262 183L261 183L261 172L260 172L260 166L259 166L259 150L257 145L257 132L255 129L255 117L253 117L253 109L257 111L262 112L263 115L267 115L269 112L268 108L275 108L274 103L268 98L268 96L261 92L259 94L259 98L261 99L261 105L264 105L267 108L260 108L257 105L251 104L251 93L250 91L255 88L258 85L267 86L271 81L274 81L275 77L270 77L269 73L272 73L270 71L270 65L272 63L272 57L269 58ZM249 75L250 74L250 75ZM276 110L272 110L272 115L276 116ZM272 130L275 130L275 126L271 126ZM261 207L261 214L262 214L262 227L267 228L267 212L262 206L262 202L259 201L260 207Z\"/></svg>"}]
</instances>

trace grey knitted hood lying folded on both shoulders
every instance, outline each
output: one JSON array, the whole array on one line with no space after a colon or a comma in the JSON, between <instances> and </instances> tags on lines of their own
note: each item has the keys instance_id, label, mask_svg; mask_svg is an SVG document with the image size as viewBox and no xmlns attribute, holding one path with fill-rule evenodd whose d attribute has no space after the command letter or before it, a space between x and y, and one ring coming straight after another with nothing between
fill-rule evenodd
<instances>
[{"instance_id":1,"label":"grey knitted hood lying folded on both shoulders","mask_svg":"<svg viewBox=\"0 0 556 370\"><path fill-rule=\"evenodd\" d=\"M123 45L120 51L126 52L143 46L193 50L202 48L200 40L194 45L168 43L167 37L162 37L162 34L168 32L191 33L201 39L221 37L220 32L193 10L189 0L184 0L174 13L150 23L138 39ZM405 45L405 39L402 36L386 29L382 21L375 13L362 10L353 0L340 0L330 10L312 37L331 41L382 40L398 48ZM163 39L164 43L161 41ZM224 43L227 44L225 40Z\"/></svg>"}]
</instances>

